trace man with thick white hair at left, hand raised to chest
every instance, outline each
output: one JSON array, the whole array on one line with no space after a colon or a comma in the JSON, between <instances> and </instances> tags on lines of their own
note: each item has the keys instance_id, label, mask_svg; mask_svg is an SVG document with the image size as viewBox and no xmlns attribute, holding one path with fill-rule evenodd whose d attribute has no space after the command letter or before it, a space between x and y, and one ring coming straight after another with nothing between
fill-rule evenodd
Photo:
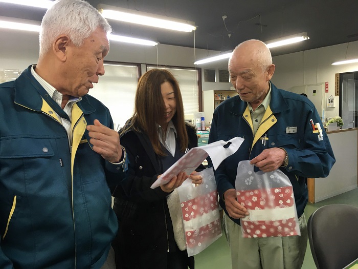
<instances>
[{"instance_id":1,"label":"man with thick white hair at left, hand raised to chest","mask_svg":"<svg viewBox=\"0 0 358 269\"><path fill-rule=\"evenodd\" d=\"M110 26L81 0L44 15L37 65L0 85L0 268L115 268L109 185L127 160L108 109L88 95Z\"/></svg>"}]
</instances>

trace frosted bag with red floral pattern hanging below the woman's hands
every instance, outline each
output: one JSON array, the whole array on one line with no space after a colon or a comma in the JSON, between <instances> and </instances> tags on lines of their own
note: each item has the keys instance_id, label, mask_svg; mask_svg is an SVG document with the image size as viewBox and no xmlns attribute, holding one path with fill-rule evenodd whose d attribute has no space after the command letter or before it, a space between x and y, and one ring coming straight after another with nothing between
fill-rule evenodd
<instances>
[{"instance_id":1,"label":"frosted bag with red floral pattern hanging below the woman's hands","mask_svg":"<svg viewBox=\"0 0 358 269\"><path fill-rule=\"evenodd\" d=\"M202 252L221 236L219 203L212 168L199 173L203 183L197 185L190 179L177 188L184 223L188 256Z\"/></svg>"}]
</instances>

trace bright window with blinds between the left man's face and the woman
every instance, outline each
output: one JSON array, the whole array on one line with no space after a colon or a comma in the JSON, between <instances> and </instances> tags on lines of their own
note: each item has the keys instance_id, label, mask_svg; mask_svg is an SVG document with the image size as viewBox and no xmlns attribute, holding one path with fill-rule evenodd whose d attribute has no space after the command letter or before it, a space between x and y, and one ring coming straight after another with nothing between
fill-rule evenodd
<instances>
[{"instance_id":1,"label":"bright window with blinds between the left man's face and the woman","mask_svg":"<svg viewBox=\"0 0 358 269\"><path fill-rule=\"evenodd\" d=\"M89 95L100 100L110 111L115 130L132 116L139 77L137 65L104 64L105 73Z\"/></svg>"}]
</instances>

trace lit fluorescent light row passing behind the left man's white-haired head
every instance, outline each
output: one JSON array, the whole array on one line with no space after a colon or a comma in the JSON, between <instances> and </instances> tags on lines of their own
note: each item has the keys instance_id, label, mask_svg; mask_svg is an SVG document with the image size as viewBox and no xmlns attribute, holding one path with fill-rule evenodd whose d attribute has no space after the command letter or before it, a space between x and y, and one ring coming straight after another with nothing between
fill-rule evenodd
<instances>
[{"instance_id":1,"label":"lit fluorescent light row passing behind the left man's white-haired head","mask_svg":"<svg viewBox=\"0 0 358 269\"><path fill-rule=\"evenodd\" d=\"M21 19L20 21L21 23L11 22L10 20L7 20L6 17L0 17L0 28L40 32L41 26L32 24L33 23L32 20ZM139 44L139 45L146 45L146 46L155 46L159 44L158 42L154 42L151 40L133 38L128 36L116 35L116 34L108 34L107 37L109 40L131 43L131 44Z\"/></svg>"}]
</instances>

